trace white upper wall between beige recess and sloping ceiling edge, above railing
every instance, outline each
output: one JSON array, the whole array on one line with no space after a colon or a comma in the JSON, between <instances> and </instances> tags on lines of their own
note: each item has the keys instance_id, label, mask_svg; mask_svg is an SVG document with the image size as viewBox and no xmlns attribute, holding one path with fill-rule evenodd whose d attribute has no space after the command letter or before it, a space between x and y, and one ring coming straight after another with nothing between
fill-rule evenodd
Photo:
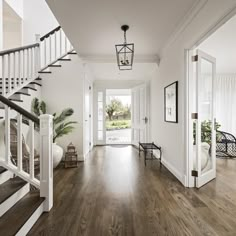
<instances>
[{"instance_id":1,"label":"white upper wall between beige recess and sloping ceiling edge, above railing","mask_svg":"<svg viewBox=\"0 0 236 236\"><path fill-rule=\"evenodd\" d=\"M35 34L45 35L59 23L45 0L24 0L23 44L35 43Z\"/></svg>"}]
</instances>

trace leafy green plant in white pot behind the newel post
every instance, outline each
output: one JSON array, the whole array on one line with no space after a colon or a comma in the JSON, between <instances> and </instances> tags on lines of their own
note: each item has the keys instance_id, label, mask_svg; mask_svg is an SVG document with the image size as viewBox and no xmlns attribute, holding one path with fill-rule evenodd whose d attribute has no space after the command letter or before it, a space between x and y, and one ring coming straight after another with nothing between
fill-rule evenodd
<instances>
[{"instance_id":1,"label":"leafy green plant in white pot behind the newel post","mask_svg":"<svg viewBox=\"0 0 236 236\"><path fill-rule=\"evenodd\" d=\"M47 105L44 101L40 102L38 98L34 98L31 110L36 116L40 116L47 113ZM74 110L72 108L66 108L59 115L53 114L53 168L57 167L63 156L63 149L56 144L56 140L71 133L75 128L73 124L77 124L76 121L66 122L66 119L72 116L73 113Z\"/></svg>"}]
</instances>

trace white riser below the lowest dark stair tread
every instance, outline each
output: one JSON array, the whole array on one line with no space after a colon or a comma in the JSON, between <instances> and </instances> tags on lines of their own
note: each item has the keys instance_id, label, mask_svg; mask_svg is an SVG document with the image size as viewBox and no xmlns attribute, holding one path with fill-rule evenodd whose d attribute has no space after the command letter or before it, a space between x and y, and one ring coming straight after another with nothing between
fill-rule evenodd
<instances>
[{"instance_id":1,"label":"white riser below the lowest dark stair tread","mask_svg":"<svg viewBox=\"0 0 236 236\"><path fill-rule=\"evenodd\" d=\"M31 230L33 225L39 219L39 217L43 213L44 202L37 208L37 210L32 214L32 216L26 221L26 223L21 227L21 229L17 232L16 236L25 236Z\"/></svg>"}]
</instances>

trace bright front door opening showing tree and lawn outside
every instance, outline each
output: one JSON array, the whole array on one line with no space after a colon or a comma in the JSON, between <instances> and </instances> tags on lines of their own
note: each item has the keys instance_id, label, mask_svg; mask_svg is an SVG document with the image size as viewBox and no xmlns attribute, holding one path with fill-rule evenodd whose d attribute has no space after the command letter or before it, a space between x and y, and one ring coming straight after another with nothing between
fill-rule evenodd
<instances>
[{"instance_id":1,"label":"bright front door opening showing tree and lawn outside","mask_svg":"<svg viewBox=\"0 0 236 236\"><path fill-rule=\"evenodd\" d=\"M106 90L106 144L131 144L131 90Z\"/></svg>"}]
</instances>

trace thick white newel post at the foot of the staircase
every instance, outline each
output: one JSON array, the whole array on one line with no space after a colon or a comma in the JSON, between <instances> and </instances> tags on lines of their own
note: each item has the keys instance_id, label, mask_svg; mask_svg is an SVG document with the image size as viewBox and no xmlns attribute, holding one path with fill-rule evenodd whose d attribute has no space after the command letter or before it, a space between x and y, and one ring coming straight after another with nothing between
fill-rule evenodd
<instances>
[{"instance_id":1,"label":"thick white newel post at the foot of the staircase","mask_svg":"<svg viewBox=\"0 0 236 236\"><path fill-rule=\"evenodd\" d=\"M40 196L45 197L44 211L53 206L53 116L40 117Z\"/></svg>"}]
</instances>

